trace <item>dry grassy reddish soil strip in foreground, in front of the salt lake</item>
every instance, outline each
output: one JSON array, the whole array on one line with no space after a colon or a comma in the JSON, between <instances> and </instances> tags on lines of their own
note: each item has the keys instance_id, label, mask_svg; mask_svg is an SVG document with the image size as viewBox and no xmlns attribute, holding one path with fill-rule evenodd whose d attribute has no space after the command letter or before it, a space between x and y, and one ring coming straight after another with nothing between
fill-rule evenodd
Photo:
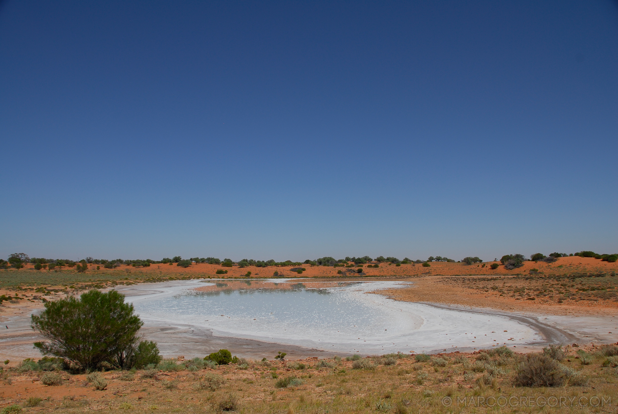
<instances>
[{"instance_id":1,"label":"dry grassy reddish soil strip in foreground, in front of the salt lake","mask_svg":"<svg viewBox=\"0 0 618 414\"><path fill-rule=\"evenodd\" d=\"M371 413L376 411L398 413L442 413L444 395L470 397L472 395L568 395L588 397L602 395L616 399L615 368L599 368L604 356L595 345L567 347L562 364L589 378L586 386L557 388L520 388L512 386L512 375L519 364L518 355L508 358L483 356L476 353L443 353L444 366L431 361L418 363L414 358L398 358L387 365L385 358L363 359L375 368L354 369L352 361L331 358L306 358L300 361L248 361L248 369L231 364L189 371L145 371L135 374L109 371L99 374L107 386L96 390L85 374L70 375L60 372L62 384L43 384L45 373L12 369L4 373L0 384L0 408L17 404L25 410L54 413L103 412L221 412L221 403L234 400L234 411L245 413ZM591 364L580 363L577 351L590 355ZM486 355L486 354L485 354ZM483 381L486 373L475 373L476 361L497 363L501 373ZM178 358L177 363L187 361ZM303 366L298 366L302 363ZM393 364L394 363L394 364ZM153 376L154 374L154 376ZM214 390L200 389L208 376L221 379ZM300 378L298 384L282 387L277 384L285 377ZM204 382L202 382L204 383ZM36 398L28 406L28 399ZM32 400L31 400L32 401ZM586 400L587 401L587 400ZM380 405L382 404L382 405ZM32 407L34 405L34 407ZM387 407L387 410L384 410ZM377 408L381 408L378 410ZM494 412L517 412L512 407L495 407ZM529 412L530 408L522 412ZM544 411L543 411L544 412ZM548 410L548 412L566 412ZM582 412L588 412L588 409ZM599 410L591 410L599 412ZM613 412L604 407L601 412Z\"/></svg>"}]
</instances>

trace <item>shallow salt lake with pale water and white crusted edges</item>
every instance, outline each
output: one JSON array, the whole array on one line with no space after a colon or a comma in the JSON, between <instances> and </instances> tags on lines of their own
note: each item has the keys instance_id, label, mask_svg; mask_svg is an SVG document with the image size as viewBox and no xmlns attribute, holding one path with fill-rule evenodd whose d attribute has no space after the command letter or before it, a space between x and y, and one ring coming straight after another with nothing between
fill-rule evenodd
<instances>
[{"instance_id":1,"label":"shallow salt lake with pale water and white crusted edges","mask_svg":"<svg viewBox=\"0 0 618 414\"><path fill-rule=\"evenodd\" d=\"M437 309L367 293L404 282L183 281L132 287L147 324L176 323L214 335L341 353L472 350L541 342L507 317ZM507 331L507 332L504 332Z\"/></svg>"}]
</instances>

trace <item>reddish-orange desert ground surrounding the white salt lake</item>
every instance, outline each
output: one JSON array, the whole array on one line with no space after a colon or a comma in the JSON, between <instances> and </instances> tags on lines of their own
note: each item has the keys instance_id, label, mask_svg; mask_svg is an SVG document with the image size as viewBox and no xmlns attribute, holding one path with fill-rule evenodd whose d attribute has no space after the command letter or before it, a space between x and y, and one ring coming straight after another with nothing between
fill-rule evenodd
<instances>
[{"instance_id":1,"label":"reddish-orange desert ground surrounding the white salt lake","mask_svg":"<svg viewBox=\"0 0 618 414\"><path fill-rule=\"evenodd\" d=\"M523 267L514 270L506 270L503 266L491 270L489 264L482 267L446 262L433 262L431 267L381 264L378 269L363 267L362 274L356 273L357 268L310 265L303 265L307 270L302 274L290 271L289 267L239 269L208 264L188 268L163 264L137 269L121 266L114 270L96 270L95 267L85 273L74 270L36 271L30 267L0 271L0 295L7 297L0 306L0 321L6 326L0 331L0 356L2 360L8 360L3 367L0 384L2 409L17 404L25 411L40 412L221 412L227 410L226 404L231 404L231 409L245 413L418 413L446 412L441 405L444 397L497 397L530 395L531 392L546 397L568 395L579 398L595 393L611 395L612 399L616 397L617 370L598 351L603 343L618 341L618 323L615 322L618 321L616 263L562 257L552 264L525 262ZM229 272L216 275L218 269ZM532 269L538 272L531 272ZM347 270L347 274L337 274L337 270ZM96 390L85 375L72 375L64 371L60 373L59 385L45 385L41 381L45 371L28 370L22 363L27 356L38 358L36 352L33 350L32 355L14 352L35 342L36 334L28 326L28 315L41 309L44 301L75 295L89 288L109 289L132 283L188 278L237 278L246 275L247 271L252 272L252 278L273 277L277 271L279 277L405 280L412 282L412 286L376 293L400 301L512 313L543 320L543 323L578 338L577 347L570 343L566 348L569 357L562 363L585 375L588 384L559 389L514 388L515 368L523 354L502 361L501 371L488 378L488 371L475 372L470 368L479 358L478 353L434 355L431 361L425 363L416 362L410 356L395 358L394 364L391 360L385 364L385 358L363 358L370 361L366 364L369 368L353 369L352 361L332 358L334 355L311 355L307 350L290 349L288 359L295 361L281 363L273 360L276 350L280 348L276 344L238 339L227 339L226 342L226 339L211 338L209 347L198 350L198 353L203 352L200 357L221 347L231 349L240 357L245 353L252 355L255 360L247 361L247 367L229 365L197 369L190 368L187 361L193 354L187 355L187 360L184 355L174 355L179 368L133 374L108 371L101 374L108 385L104 390ZM148 332L145 334L147 336ZM176 335L203 338L207 337L208 332L167 331L166 334L161 330L150 334L168 335L167 341L173 342ZM592 362L580 363L580 357L575 353L578 350L590 355ZM518 353L520 351L539 349L517 350ZM266 361L260 361L261 358L256 358L258 355L263 355ZM436 364L436 358L446 360L446 365L441 366L442 361ZM304 364L305 368L300 368L298 363ZM373 366L373 363L377 365ZM222 377L222 385L215 390L203 386L210 374ZM277 385L278 379L292 376L299 379L292 381L293 385ZM494 407L494 412L531 412L530 408L507 408ZM458 409L454 412L463 411ZM615 408L577 408L573 412L615 412Z\"/></svg>"}]
</instances>

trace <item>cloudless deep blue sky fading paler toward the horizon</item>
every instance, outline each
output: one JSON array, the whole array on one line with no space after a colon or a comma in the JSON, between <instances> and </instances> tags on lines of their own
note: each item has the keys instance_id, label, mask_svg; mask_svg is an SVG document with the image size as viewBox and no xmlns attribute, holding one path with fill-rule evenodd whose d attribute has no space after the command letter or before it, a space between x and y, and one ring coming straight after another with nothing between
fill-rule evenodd
<instances>
[{"instance_id":1,"label":"cloudless deep blue sky fading paler toward the horizon","mask_svg":"<svg viewBox=\"0 0 618 414\"><path fill-rule=\"evenodd\" d=\"M618 252L618 6L0 3L0 257Z\"/></svg>"}]
</instances>

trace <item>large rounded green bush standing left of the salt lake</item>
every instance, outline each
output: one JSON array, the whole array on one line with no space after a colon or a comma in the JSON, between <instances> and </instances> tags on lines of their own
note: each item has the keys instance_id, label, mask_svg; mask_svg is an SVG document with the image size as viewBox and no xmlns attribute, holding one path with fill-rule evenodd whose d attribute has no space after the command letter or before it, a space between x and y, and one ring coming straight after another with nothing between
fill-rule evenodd
<instances>
[{"instance_id":1,"label":"large rounded green bush standing left of the salt lake","mask_svg":"<svg viewBox=\"0 0 618 414\"><path fill-rule=\"evenodd\" d=\"M137 341L143 322L116 290L91 290L80 299L69 297L45 303L40 315L32 315L32 329L46 341L35 342L43 355L54 355L82 369L113 363L116 356Z\"/></svg>"}]
</instances>

